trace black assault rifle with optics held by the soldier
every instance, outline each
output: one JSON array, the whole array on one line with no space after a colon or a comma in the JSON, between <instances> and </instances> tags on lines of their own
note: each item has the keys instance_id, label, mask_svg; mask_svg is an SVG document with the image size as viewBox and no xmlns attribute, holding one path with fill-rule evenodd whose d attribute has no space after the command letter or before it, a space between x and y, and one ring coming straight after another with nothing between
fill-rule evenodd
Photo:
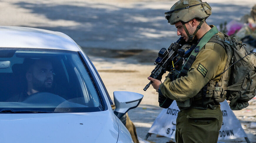
<instances>
[{"instance_id":1,"label":"black assault rifle with optics held by the soldier","mask_svg":"<svg viewBox=\"0 0 256 143\"><path fill-rule=\"evenodd\" d=\"M154 70L152 70L150 77L161 80L162 75L166 73L166 71L170 72L173 58L177 54L184 55L184 50L180 49L185 42L183 38L184 37L180 37L177 42L172 43L169 46L168 50L166 48L162 48L158 52L158 57L154 62L154 65L156 65L156 67L154 68ZM146 91L151 84L152 81L150 81L143 90Z\"/></svg>"}]
</instances>

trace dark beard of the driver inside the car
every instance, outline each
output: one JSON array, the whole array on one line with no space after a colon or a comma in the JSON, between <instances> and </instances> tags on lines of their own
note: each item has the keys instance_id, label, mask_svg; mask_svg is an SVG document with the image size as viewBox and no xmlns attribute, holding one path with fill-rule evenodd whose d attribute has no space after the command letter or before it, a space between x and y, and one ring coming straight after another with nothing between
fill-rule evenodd
<instances>
[{"instance_id":1,"label":"dark beard of the driver inside the car","mask_svg":"<svg viewBox=\"0 0 256 143\"><path fill-rule=\"evenodd\" d=\"M36 79L36 77L34 77L34 75L32 78L33 78L32 84L33 84L34 90L37 90L38 92L52 92L52 85L47 87L45 85L45 81L42 82L42 81Z\"/></svg>"}]
</instances>

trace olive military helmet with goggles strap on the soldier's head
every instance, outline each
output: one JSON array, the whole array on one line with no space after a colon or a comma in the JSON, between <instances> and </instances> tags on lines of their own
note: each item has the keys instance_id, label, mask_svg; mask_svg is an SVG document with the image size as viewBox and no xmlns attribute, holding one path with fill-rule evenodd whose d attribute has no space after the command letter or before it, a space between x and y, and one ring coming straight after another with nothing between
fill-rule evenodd
<instances>
[{"instance_id":1,"label":"olive military helmet with goggles strap on the soldier's head","mask_svg":"<svg viewBox=\"0 0 256 143\"><path fill-rule=\"evenodd\" d=\"M212 14L211 10L209 4L201 0L179 0L164 15L168 23L174 25L179 21L187 23L194 18L205 19Z\"/></svg>"}]
</instances>

